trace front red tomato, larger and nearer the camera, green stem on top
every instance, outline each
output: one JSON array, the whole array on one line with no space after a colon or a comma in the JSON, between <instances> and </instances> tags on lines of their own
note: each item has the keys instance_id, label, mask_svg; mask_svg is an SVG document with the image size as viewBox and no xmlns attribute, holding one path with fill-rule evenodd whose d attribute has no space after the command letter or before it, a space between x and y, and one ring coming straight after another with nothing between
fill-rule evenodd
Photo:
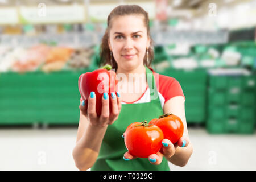
<instances>
[{"instance_id":1,"label":"front red tomato, larger and nearer the camera, green stem on top","mask_svg":"<svg viewBox=\"0 0 256 182\"><path fill-rule=\"evenodd\" d=\"M125 130L125 146L131 155L148 158L162 147L163 131L147 121L131 123Z\"/></svg>"}]
</instances>

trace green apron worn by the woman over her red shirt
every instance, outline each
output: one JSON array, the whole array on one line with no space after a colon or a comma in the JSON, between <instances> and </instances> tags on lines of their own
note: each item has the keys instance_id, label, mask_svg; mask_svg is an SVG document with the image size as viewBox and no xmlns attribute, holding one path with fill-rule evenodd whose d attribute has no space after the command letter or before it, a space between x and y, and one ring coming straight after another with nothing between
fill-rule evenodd
<instances>
[{"instance_id":1,"label":"green apron worn by the woman over her red shirt","mask_svg":"<svg viewBox=\"0 0 256 182\"><path fill-rule=\"evenodd\" d=\"M127 149L122 134L125 132L127 126L129 126L130 123L141 122L144 120L150 122L151 119L158 118L159 115L163 114L153 73L147 67L146 77L148 80L148 87L150 88L150 97L154 98L153 95L155 93L157 94L157 98L151 99L150 102L146 103L122 104L118 119L112 125L109 125L106 130L98 158L91 168L92 171L170 170L166 158L163 158L162 163L159 165L151 164L148 158L136 158L128 161L123 160L123 154L127 152ZM150 80L152 80L152 82L150 82ZM154 88L152 88L151 84L154 85Z\"/></svg>"}]
</instances>

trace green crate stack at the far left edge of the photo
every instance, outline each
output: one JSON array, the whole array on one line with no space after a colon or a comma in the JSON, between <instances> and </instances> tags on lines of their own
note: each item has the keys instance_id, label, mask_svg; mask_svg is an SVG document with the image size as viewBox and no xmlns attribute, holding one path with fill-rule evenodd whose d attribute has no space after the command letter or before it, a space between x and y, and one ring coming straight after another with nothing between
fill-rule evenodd
<instances>
[{"instance_id":1,"label":"green crate stack at the far left edge of the photo","mask_svg":"<svg viewBox=\"0 0 256 182\"><path fill-rule=\"evenodd\" d=\"M29 124L40 110L37 73L7 72L0 75L0 123Z\"/></svg>"}]
</instances>

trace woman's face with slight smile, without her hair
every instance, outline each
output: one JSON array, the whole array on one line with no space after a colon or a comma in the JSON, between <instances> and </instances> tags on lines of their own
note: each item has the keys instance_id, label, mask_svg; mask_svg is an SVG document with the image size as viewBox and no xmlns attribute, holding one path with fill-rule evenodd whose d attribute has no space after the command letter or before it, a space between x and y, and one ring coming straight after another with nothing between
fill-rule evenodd
<instances>
[{"instance_id":1,"label":"woman's face with slight smile, without her hair","mask_svg":"<svg viewBox=\"0 0 256 182\"><path fill-rule=\"evenodd\" d=\"M109 48L118 68L131 70L143 65L150 38L142 15L125 15L112 19Z\"/></svg>"}]
</instances>

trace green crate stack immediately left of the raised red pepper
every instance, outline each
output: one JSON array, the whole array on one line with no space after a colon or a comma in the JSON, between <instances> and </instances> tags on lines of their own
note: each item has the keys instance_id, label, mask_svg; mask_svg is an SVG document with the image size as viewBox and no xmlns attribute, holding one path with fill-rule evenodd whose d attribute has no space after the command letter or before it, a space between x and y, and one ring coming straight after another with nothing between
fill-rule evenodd
<instances>
[{"instance_id":1,"label":"green crate stack immediately left of the raised red pepper","mask_svg":"<svg viewBox=\"0 0 256 182\"><path fill-rule=\"evenodd\" d=\"M60 71L42 74L39 101L42 111L37 119L44 124L77 124L80 93L78 80L83 72Z\"/></svg>"}]
</instances>

